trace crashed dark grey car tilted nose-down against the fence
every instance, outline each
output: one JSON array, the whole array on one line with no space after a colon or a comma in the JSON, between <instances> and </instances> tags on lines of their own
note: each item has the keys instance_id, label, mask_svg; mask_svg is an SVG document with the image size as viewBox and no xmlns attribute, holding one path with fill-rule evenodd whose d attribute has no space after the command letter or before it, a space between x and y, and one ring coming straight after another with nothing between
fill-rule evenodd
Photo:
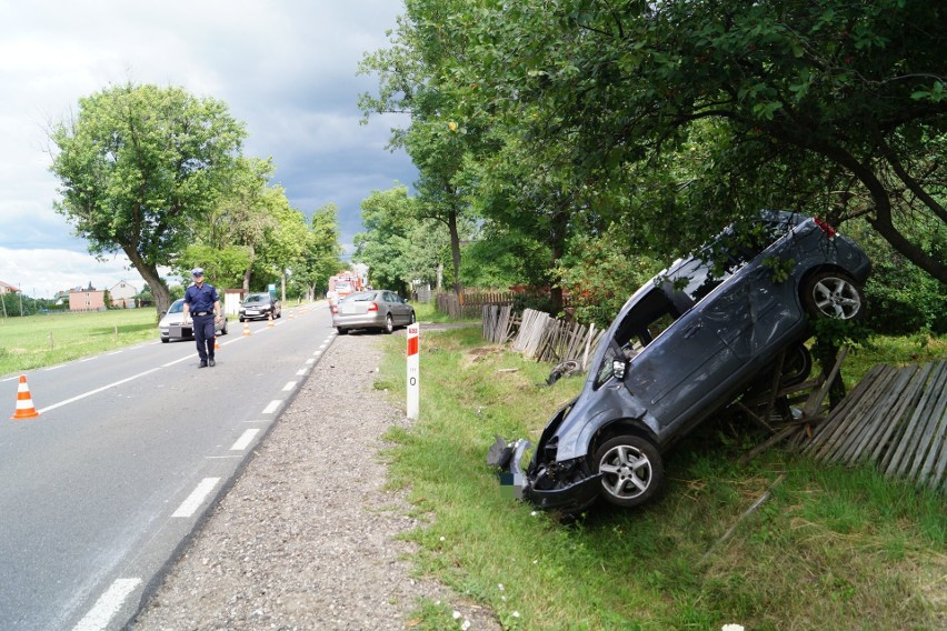
<instances>
[{"instance_id":1,"label":"crashed dark grey car tilted nose-down against the fence","mask_svg":"<svg viewBox=\"0 0 947 631\"><path fill-rule=\"evenodd\" d=\"M581 393L531 447L498 438L488 462L541 508L599 495L632 507L664 479L661 453L811 335L811 318L855 318L870 262L819 219L764 211L638 289L599 344ZM806 351L807 352L807 351Z\"/></svg>"}]
</instances>

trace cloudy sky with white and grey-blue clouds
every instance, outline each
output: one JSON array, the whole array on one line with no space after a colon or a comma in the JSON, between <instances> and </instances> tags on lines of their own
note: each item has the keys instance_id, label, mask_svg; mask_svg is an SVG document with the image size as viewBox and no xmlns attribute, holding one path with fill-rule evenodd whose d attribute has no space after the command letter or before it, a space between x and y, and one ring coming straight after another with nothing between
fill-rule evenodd
<instances>
[{"instance_id":1,"label":"cloudy sky with white and grey-blue clouds","mask_svg":"<svg viewBox=\"0 0 947 631\"><path fill-rule=\"evenodd\" d=\"M402 121L359 126L356 106L377 88L358 62L401 12L401 0L0 0L0 281L37 298L140 287L123 254L98 262L52 210L47 138L80 98L129 80L226 102L246 123L243 153L272 157L272 183L307 216L335 202L350 246L361 200L417 179L386 149Z\"/></svg>"}]
</instances>

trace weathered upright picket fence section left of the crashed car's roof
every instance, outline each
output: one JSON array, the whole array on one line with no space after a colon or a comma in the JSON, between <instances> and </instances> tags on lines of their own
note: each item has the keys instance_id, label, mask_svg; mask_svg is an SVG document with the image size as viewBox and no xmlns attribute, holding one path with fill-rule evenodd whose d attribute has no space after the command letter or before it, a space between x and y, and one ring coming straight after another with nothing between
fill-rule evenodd
<instances>
[{"instance_id":1,"label":"weathered upright picket fence section left of the crashed car's roof","mask_svg":"<svg viewBox=\"0 0 947 631\"><path fill-rule=\"evenodd\" d=\"M484 338L505 344L537 361L576 361L582 371L595 354L604 330L552 318L542 311L526 309L517 318L511 304L482 307Z\"/></svg>"}]
</instances>

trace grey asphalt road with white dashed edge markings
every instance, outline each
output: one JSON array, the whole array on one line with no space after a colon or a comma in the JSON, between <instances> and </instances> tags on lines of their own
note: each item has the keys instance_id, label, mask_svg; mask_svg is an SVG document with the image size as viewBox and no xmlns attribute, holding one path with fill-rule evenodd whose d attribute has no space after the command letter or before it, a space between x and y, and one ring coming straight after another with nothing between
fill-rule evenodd
<instances>
[{"instance_id":1,"label":"grey asphalt road with white dashed edge markings","mask_svg":"<svg viewBox=\"0 0 947 631\"><path fill-rule=\"evenodd\" d=\"M0 625L121 629L335 337L326 303L0 381ZM103 334L107 334L104 332ZM8 415L9 414L9 415Z\"/></svg>"}]
</instances>

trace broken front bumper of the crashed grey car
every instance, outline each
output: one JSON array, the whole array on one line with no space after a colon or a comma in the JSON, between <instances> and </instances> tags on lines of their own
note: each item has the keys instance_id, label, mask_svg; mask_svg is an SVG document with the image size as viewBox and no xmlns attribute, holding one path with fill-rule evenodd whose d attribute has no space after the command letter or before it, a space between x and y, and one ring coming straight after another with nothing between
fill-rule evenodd
<instances>
[{"instance_id":1,"label":"broken front bumper of the crashed grey car","mask_svg":"<svg viewBox=\"0 0 947 631\"><path fill-rule=\"evenodd\" d=\"M500 469L500 493L530 502L544 510L580 511L591 504L601 490L601 473L588 475L572 483L550 483L547 468L538 475L524 473L522 455L531 443L526 439L497 441L487 453L487 464ZM534 468L530 468L530 471ZM539 488L537 488L539 487ZM550 488L546 488L550 487Z\"/></svg>"}]
</instances>

